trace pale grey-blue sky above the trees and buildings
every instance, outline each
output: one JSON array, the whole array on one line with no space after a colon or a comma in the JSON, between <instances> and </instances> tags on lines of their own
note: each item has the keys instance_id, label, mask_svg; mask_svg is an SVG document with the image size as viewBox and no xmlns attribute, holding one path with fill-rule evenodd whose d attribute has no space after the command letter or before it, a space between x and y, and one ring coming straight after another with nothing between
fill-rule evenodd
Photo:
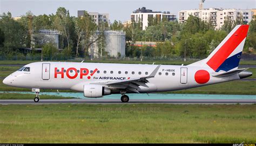
<instances>
[{"instance_id":1,"label":"pale grey-blue sky above the trees and buildings","mask_svg":"<svg viewBox=\"0 0 256 146\"><path fill-rule=\"evenodd\" d=\"M132 11L145 6L153 11L170 11L178 15L180 10L198 9L199 0L0 0L0 13L10 11L12 17L25 15L31 11L34 15L56 13L58 7L69 10L71 16L77 16L78 10L109 13L110 21L130 20ZM206 0L204 8L255 9L256 0Z\"/></svg>"}]
</instances>

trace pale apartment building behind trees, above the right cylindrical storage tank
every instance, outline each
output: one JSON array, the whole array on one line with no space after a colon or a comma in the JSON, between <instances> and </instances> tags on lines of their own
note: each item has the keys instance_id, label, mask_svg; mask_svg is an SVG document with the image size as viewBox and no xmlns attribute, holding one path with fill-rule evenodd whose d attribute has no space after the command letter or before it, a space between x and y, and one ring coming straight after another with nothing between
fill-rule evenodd
<instances>
[{"instance_id":1,"label":"pale apartment building behind trees, above the right cylindrical storage tank","mask_svg":"<svg viewBox=\"0 0 256 146\"><path fill-rule=\"evenodd\" d=\"M83 16L84 12L85 12L84 10L77 11L77 17ZM98 12L87 12L87 13L89 13L89 15L92 16L93 20L97 25L105 22L110 25L109 13L98 13Z\"/></svg>"}]
</instances>

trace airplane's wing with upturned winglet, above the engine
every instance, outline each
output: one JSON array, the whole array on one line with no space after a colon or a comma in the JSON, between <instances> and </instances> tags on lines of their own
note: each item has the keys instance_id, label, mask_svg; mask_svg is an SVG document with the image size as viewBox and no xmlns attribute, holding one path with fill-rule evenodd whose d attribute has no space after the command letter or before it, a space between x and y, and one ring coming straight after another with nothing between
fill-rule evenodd
<instances>
[{"instance_id":1,"label":"airplane's wing with upturned winglet, above the engine","mask_svg":"<svg viewBox=\"0 0 256 146\"><path fill-rule=\"evenodd\" d=\"M122 88L122 89L125 89L126 91L139 93L138 91L140 89L139 86L148 88L149 86L147 86L146 83L149 81L147 79L154 78L159 68L160 68L160 65L158 65L154 69L154 71L147 77L131 78L131 79L125 79L125 80L118 80L118 81L94 82L91 84L107 85L111 87Z\"/></svg>"}]
</instances>

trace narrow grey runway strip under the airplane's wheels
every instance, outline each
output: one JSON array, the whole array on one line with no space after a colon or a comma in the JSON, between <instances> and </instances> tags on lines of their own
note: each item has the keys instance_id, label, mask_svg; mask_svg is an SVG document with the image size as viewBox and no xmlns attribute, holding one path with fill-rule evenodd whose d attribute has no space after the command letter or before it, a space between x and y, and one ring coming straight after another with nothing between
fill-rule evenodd
<instances>
[{"instance_id":1,"label":"narrow grey runway strip under the airplane's wheels","mask_svg":"<svg viewBox=\"0 0 256 146\"><path fill-rule=\"evenodd\" d=\"M39 102L33 100L0 100L0 105L47 105L59 103L88 103L88 104L134 104L134 103L167 103L167 104L254 104L255 99L130 99L123 103L118 99L41 99Z\"/></svg>"}]
</instances>

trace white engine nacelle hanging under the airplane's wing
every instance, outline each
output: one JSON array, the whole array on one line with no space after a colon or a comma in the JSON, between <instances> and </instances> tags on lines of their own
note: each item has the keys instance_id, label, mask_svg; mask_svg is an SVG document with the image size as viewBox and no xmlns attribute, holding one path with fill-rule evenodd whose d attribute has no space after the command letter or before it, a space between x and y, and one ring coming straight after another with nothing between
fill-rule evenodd
<instances>
[{"instance_id":1,"label":"white engine nacelle hanging under the airplane's wing","mask_svg":"<svg viewBox=\"0 0 256 146\"><path fill-rule=\"evenodd\" d=\"M101 98L104 95L111 94L109 88L100 85L84 85L84 96L86 98Z\"/></svg>"}]
</instances>

